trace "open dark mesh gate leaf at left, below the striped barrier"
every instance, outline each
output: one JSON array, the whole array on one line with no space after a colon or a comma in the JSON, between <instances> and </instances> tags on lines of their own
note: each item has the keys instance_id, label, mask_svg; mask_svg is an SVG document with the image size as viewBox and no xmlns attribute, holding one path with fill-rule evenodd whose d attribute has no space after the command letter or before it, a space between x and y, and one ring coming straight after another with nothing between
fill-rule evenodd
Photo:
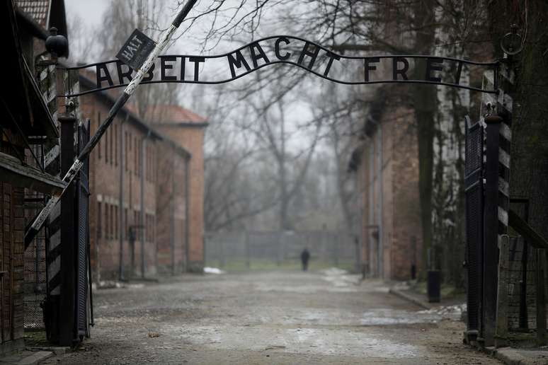
<instances>
[{"instance_id":1,"label":"open dark mesh gate leaf at left, below the striped barrier","mask_svg":"<svg viewBox=\"0 0 548 365\"><path fill-rule=\"evenodd\" d=\"M89 141L89 122L78 126L78 153ZM88 253L89 253L89 158L76 180L76 332L80 338L88 333Z\"/></svg>"}]
</instances>

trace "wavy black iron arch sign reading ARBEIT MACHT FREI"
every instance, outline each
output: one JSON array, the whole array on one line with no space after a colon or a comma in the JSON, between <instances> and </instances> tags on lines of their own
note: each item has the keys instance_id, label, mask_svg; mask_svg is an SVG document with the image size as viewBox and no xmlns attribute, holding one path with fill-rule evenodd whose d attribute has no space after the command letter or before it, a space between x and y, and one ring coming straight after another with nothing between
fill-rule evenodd
<instances>
[{"instance_id":1,"label":"wavy black iron arch sign reading ARBEIT MACHT FREI","mask_svg":"<svg viewBox=\"0 0 548 365\"><path fill-rule=\"evenodd\" d=\"M292 64L323 79L348 85L429 83L482 93L498 93L496 73L499 62L473 62L467 59L426 55L345 56L291 35L265 37L232 52L218 55L159 56L142 83L227 83L270 64ZM460 83L462 75L474 67L480 67L483 71L493 71L495 83L492 89ZM64 69L91 71L90 74L94 73L96 77L96 88L60 95L64 97L127 86L135 72L118 59ZM345 70L355 72L343 72ZM355 78L357 74L362 75L361 79L349 79L350 76ZM200 75L207 76L200 79Z\"/></svg>"}]
</instances>

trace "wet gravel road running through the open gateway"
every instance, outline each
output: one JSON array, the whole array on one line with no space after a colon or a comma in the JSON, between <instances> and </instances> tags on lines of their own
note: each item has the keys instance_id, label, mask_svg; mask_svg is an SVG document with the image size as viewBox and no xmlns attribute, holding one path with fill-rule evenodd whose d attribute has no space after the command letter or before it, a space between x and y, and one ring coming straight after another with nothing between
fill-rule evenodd
<instances>
[{"instance_id":1,"label":"wet gravel road running through the open gateway","mask_svg":"<svg viewBox=\"0 0 548 365\"><path fill-rule=\"evenodd\" d=\"M338 270L185 276L95 302L92 338L46 364L498 364L462 323Z\"/></svg>"}]
</instances>

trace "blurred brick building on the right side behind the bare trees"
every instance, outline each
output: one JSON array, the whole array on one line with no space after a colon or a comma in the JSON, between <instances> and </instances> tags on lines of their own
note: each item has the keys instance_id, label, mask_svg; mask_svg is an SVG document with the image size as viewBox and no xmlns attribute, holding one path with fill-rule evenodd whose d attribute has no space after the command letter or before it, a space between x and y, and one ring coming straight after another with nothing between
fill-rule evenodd
<instances>
[{"instance_id":1,"label":"blurred brick building on the right side behind the bare trees","mask_svg":"<svg viewBox=\"0 0 548 365\"><path fill-rule=\"evenodd\" d=\"M409 279L421 267L418 141L413 111L381 87L350 161L360 197L363 270Z\"/></svg>"}]
</instances>

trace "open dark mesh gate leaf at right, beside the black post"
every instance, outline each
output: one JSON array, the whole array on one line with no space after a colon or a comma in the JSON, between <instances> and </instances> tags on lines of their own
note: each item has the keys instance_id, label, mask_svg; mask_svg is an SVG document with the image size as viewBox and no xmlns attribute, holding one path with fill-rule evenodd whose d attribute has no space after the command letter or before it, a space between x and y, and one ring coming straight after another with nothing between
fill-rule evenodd
<instances>
[{"instance_id":1,"label":"open dark mesh gate leaf at right, beside the black post","mask_svg":"<svg viewBox=\"0 0 548 365\"><path fill-rule=\"evenodd\" d=\"M466 202L467 238L467 340L474 341L481 330L481 296L484 238L484 127L478 122L471 125L466 117L466 163L464 166L464 193Z\"/></svg>"}]
</instances>

